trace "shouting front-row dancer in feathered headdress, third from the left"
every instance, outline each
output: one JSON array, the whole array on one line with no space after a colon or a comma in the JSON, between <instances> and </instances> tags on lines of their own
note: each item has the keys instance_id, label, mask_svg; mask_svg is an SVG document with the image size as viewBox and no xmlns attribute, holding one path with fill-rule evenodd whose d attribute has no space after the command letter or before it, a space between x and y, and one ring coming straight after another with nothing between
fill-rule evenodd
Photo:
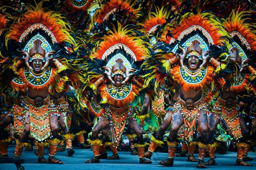
<instances>
[{"instance_id":1,"label":"shouting front-row dancer in feathered headdress, third from the left","mask_svg":"<svg viewBox=\"0 0 256 170\"><path fill-rule=\"evenodd\" d=\"M197 168L206 168L204 156L208 139L208 109L204 104L202 89L213 83L214 71L220 72L226 67L225 64L219 63L214 58L211 59L211 62L208 62L211 57L209 55L210 50L213 50L217 45L223 46L226 40L223 38L226 32L223 30L221 22L210 16L213 16L213 14L198 13L189 16L187 19L181 17L177 26L171 30L164 30L162 34L165 47L170 44L170 51L177 55L172 53L156 54L153 56L154 61L159 61L156 66L151 66L150 63L154 62L152 59L145 61L145 65L148 64L149 69L153 68L151 75L148 75L149 78L157 77L157 82L160 84L165 76L160 77L157 74L162 70L163 73L173 76L174 80L179 82L180 85L178 101L169 109L173 113L170 134L167 140L169 158L159 162L160 165L173 165L177 147L177 132L184 124L185 143L198 141L199 160ZM174 35L170 35L170 33ZM182 51L182 54L179 54L179 50ZM215 54L213 53L213 55ZM184 65L186 59L187 64ZM180 64L177 61L180 61ZM194 138L197 128L200 131L199 139Z\"/></svg>"}]
</instances>

